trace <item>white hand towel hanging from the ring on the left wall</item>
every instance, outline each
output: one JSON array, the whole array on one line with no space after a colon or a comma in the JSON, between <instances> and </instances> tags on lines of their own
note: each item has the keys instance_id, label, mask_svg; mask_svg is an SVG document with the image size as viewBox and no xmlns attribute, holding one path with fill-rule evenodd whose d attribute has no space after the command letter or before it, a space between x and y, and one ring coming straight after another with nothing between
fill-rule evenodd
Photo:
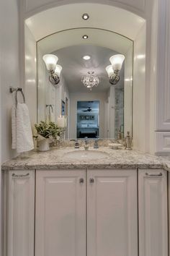
<instances>
[{"instance_id":1,"label":"white hand towel hanging from the ring on the left wall","mask_svg":"<svg viewBox=\"0 0 170 256\"><path fill-rule=\"evenodd\" d=\"M14 107L13 107L14 108ZM12 108L12 145L15 146L18 153L26 152L34 148L32 139L32 130L30 124L30 116L27 105L25 103L17 103L16 116L14 121L14 109ZM16 124L16 133L14 124ZM15 143L16 135L16 143Z\"/></svg>"}]
</instances>

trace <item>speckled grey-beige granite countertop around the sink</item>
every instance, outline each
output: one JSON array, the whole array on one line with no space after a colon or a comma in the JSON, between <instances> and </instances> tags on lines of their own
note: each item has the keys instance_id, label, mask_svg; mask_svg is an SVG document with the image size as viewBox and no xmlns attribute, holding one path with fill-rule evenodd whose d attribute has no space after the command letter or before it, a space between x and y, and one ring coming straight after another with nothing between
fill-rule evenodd
<instances>
[{"instance_id":1,"label":"speckled grey-beige granite countertop around the sink","mask_svg":"<svg viewBox=\"0 0 170 256\"><path fill-rule=\"evenodd\" d=\"M75 149L53 148L47 152L32 151L23 153L2 164L2 170L23 170L23 169L75 169L75 168L164 168L170 171L170 155L156 156L141 153L135 150L112 150L101 147L97 150L107 153L106 157L95 159L68 159L66 154Z\"/></svg>"}]
</instances>

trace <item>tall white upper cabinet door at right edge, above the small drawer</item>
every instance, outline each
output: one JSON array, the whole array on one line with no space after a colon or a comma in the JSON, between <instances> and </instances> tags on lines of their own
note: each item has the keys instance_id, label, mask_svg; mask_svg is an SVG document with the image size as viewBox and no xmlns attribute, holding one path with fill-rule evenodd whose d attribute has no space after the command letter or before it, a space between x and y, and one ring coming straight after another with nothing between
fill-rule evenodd
<instances>
[{"instance_id":1,"label":"tall white upper cabinet door at right edge, above the small drawer","mask_svg":"<svg viewBox=\"0 0 170 256\"><path fill-rule=\"evenodd\" d=\"M170 131L170 11L169 0L158 3L156 130Z\"/></svg>"}]
</instances>

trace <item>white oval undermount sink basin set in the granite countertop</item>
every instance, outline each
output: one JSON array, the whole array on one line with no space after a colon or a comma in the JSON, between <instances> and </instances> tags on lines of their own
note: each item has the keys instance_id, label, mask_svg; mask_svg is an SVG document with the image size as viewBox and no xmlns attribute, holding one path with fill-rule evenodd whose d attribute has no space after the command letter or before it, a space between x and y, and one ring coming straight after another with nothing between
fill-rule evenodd
<instances>
[{"instance_id":1,"label":"white oval undermount sink basin set in the granite countertop","mask_svg":"<svg viewBox=\"0 0 170 256\"><path fill-rule=\"evenodd\" d=\"M75 160L92 160L92 159L101 159L106 158L107 153L102 151L95 150L75 150L73 152L68 152L65 155L65 158L75 159Z\"/></svg>"}]
</instances>

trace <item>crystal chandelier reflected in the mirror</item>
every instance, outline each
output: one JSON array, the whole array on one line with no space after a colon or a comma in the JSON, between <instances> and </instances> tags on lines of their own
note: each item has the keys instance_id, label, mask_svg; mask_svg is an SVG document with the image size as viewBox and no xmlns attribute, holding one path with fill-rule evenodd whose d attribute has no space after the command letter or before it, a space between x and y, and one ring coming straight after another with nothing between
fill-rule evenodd
<instances>
[{"instance_id":1,"label":"crystal chandelier reflected in the mirror","mask_svg":"<svg viewBox=\"0 0 170 256\"><path fill-rule=\"evenodd\" d=\"M99 85L99 77L94 75L94 71L89 71L86 76L82 77L81 82L83 82L86 88L92 90L94 86L97 87Z\"/></svg>"}]
</instances>

